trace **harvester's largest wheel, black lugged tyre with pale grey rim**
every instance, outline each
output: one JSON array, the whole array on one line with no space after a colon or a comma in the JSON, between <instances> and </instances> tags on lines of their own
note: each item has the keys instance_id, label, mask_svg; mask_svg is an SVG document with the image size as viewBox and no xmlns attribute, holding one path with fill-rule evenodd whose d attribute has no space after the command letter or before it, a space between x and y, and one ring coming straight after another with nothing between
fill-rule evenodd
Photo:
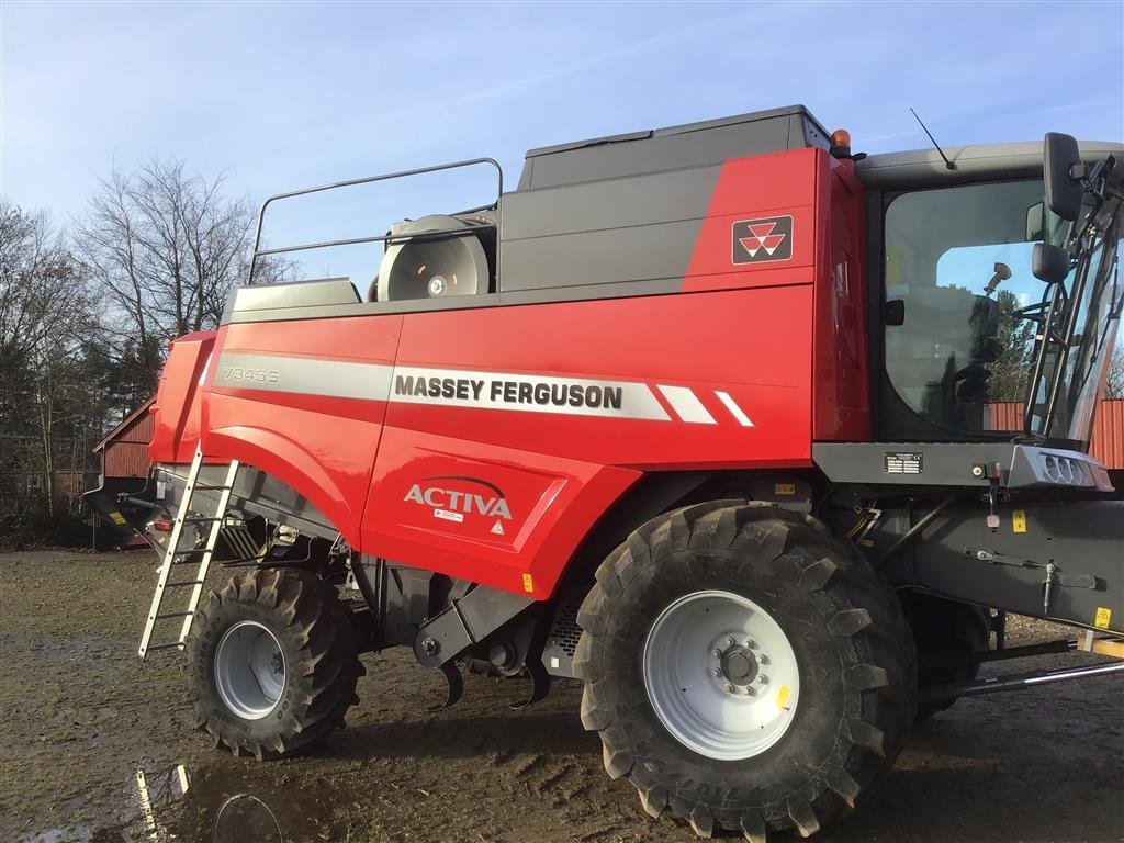
<instances>
[{"instance_id":1,"label":"harvester's largest wheel, black lugged tyre with pale grey rim","mask_svg":"<svg viewBox=\"0 0 1124 843\"><path fill-rule=\"evenodd\" d=\"M747 677L756 676L755 656L747 654L755 649L745 642L723 650L719 637L713 649L696 646L707 638L697 626L711 623L706 600L718 600L711 608L742 605L750 613L744 617L756 617L742 627L731 608L735 619L723 623L736 627L732 638L756 628L769 641L769 624L780 631L790 651L772 637L761 646L781 658L756 667L788 676L780 662L791 652L798 679L785 692L787 680L767 677L759 694L789 711L789 723L753 708L756 703L734 703L736 694L710 718L720 724L710 732L698 726L707 722L705 705L698 717L677 718L681 706L670 701L677 694L713 698L706 686L715 665L707 660L715 650L722 651L719 699L728 692L723 682L744 692L753 681ZM660 632L669 610L692 602L701 607L698 624L688 618L671 634ZM606 770L628 777L650 815L687 819L700 836L727 828L760 843L773 831L816 833L868 797L913 723L914 643L894 590L847 545L773 506L711 501L649 522L601 564L578 623L581 718L600 734ZM656 646L645 655L652 641ZM671 661L685 665L679 673L645 672L661 652L685 650ZM690 667L692 658L701 667ZM736 669L733 660L741 660ZM653 690L653 682L672 679L679 688ZM753 741L745 725L753 716L770 724L768 740Z\"/></svg>"}]
</instances>

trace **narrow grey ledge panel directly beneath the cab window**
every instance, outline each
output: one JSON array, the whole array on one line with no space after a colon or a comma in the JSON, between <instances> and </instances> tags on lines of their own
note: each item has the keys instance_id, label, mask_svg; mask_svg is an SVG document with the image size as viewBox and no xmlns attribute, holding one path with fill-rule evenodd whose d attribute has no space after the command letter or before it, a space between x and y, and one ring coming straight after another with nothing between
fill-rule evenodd
<instances>
[{"instance_id":1,"label":"narrow grey ledge panel directly beneath the cab window","mask_svg":"<svg viewBox=\"0 0 1124 843\"><path fill-rule=\"evenodd\" d=\"M812 459L836 483L951 486L986 489L992 466L1007 489L1051 487L1113 491L1088 454L1010 443L817 442ZM973 473L986 466L986 474ZM1064 466L1064 471L1062 470Z\"/></svg>"}]
</instances>

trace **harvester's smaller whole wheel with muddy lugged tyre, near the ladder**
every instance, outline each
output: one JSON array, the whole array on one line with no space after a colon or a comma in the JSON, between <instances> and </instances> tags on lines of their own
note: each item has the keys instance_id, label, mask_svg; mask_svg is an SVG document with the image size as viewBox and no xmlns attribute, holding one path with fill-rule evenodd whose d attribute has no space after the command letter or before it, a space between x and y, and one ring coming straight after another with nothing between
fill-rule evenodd
<instances>
[{"instance_id":1,"label":"harvester's smaller whole wheel with muddy lugged tyre, near the ladder","mask_svg":"<svg viewBox=\"0 0 1124 843\"><path fill-rule=\"evenodd\" d=\"M252 570L211 591L187 651L196 725L235 755L308 750L359 703L351 610L306 571Z\"/></svg>"}]
</instances>

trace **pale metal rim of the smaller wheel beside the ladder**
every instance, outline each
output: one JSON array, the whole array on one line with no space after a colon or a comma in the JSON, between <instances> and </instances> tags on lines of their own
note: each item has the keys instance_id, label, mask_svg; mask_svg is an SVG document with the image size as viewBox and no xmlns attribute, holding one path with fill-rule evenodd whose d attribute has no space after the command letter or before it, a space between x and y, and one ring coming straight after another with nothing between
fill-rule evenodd
<instances>
[{"instance_id":1,"label":"pale metal rim of the smaller wheel beside the ladder","mask_svg":"<svg viewBox=\"0 0 1124 843\"><path fill-rule=\"evenodd\" d=\"M215 650L215 688L234 714L257 720L277 707L284 690L281 644L256 620L235 624Z\"/></svg>"}]
</instances>

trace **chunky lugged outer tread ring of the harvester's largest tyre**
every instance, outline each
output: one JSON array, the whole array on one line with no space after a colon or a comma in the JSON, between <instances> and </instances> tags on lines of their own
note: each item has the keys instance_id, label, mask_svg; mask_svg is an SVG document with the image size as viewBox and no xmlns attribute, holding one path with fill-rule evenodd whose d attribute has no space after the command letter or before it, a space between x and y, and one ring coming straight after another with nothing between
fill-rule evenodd
<instances>
[{"instance_id":1,"label":"chunky lugged outer tread ring of the harvester's largest tyre","mask_svg":"<svg viewBox=\"0 0 1124 843\"><path fill-rule=\"evenodd\" d=\"M625 737L626 723L629 728L636 724L627 722L627 711L614 705L604 687L599 636L617 599L637 578L656 575L656 561L669 546L679 552L735 552L711 564L789 566L787 573L797 578L803 591L823 592L823 598L837 606L828 631L853 649L844 682L854 691L856 704L840 724L831 761L807 770L804 786L785 798L728 807L737 801L736 792L715 792L689 779L669 787L665 774L650 769L659 767L658 759L636 758L629 749L643 746L644 736ZM744 561L738 563L738 558ZM694 574L704 560L696 556L689 564ZM882 623L876 623L874 616ZM583 629L574 655L574 674L584 682L581 720L600 734L607 772L613 778L628 777L647 814L669 813L685 819L701 837L719 828L741 832L755 843L763 843L771 832L815 834L869 797L872 785L892 765L913 722L913 640L894 590L854 549L826 534L818 522L772 505L708 501L645 524L601 564L578 623ZM903 704L892 695L907 699Z\"/></svg>"}]
</instances>

